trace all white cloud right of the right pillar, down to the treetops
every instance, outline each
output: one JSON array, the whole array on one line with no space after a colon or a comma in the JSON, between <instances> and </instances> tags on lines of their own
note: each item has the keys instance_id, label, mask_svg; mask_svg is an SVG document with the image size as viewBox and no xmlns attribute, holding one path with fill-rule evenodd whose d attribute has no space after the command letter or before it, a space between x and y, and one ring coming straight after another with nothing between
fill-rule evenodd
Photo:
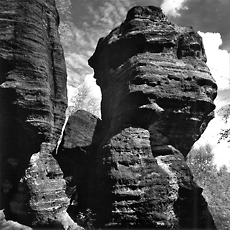
<instances>
[{"instance_id":1,"label":"all white cloud right of the right pillar, down to the treetops","mask_svg":"<svg viewBox=\"0 0 230 230\"><path fill-rule=\"evenodd\" d=\"M212 76L217 82L218 91L227 90L230 88L229 81L229 54L226 50L221 50L220 45L222 39L219 33L203 33L198 32L203 38L205 53L207 56L207 65L212 73ZM215 100L217 108L222 107L224 101L221 98ZM226 102L225 102L226 103ZM230 128L230 121L225 123L217 114L211 120L202 134L201 138L194 144L194 147L204 146L209 144L212 147L214 154L214 163L217 167L222 165L230 165L230 146L227 140L220 139L222 129Z\"/></svg>"}]
</instances>

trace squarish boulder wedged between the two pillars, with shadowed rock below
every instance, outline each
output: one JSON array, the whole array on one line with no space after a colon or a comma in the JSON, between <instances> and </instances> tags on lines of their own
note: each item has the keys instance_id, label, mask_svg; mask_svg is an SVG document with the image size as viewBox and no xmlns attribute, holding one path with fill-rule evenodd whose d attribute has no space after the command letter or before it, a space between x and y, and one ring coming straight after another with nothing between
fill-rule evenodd
<instances>
[{"instance_id":1,"label":"squarish boulder wedged between the two pillars, with shadowed rock below","mask_svg":"<svg viewBox=\"0 0 230 230\"><path fill-rule=\"evenodd\" d=\"M102 133L101 120L84 110L72 114L66 123L56 159L64 172L73 218L89 208L89 178Z\"/></svg>"}]
</instances>

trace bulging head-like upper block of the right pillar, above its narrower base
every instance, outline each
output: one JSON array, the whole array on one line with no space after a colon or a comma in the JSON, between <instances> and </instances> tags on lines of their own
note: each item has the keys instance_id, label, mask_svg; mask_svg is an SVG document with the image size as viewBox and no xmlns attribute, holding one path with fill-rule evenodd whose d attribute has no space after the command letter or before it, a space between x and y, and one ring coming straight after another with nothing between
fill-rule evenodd
<instances>
[{"instance_id":1,"label":"bulging head-like upper block of the right pillar, above its narrower base","mask_svg":"<svg viewBox=\"0 0 230 230\"><path fill-rule=\"evenodd\" d=\"M172 24L153 6L132 8L89 60L108 129L146 128L152 146L186 155L213 118L217 85L205 62L191 27Z\"/></svg>"}]
</instances>

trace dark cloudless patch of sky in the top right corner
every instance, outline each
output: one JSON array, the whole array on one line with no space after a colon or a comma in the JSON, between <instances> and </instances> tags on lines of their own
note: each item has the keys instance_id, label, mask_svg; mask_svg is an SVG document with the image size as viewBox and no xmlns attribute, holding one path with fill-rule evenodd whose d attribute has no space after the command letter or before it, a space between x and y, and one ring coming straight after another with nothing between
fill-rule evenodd
<instances>
[{"instance_id":1,"label":"dark cloudless patch of sky in the top right corner","mask_svg":"<svg viewBox=\"0 0 230 230\"><path fill-rule=\"evenodd\" d=\"M172 18L181 26L191 25L202 32L221 34L222 49L230 52L230 0L188 0L187 10L180 10L180 17Z\"/></svg>"}]
</instances>

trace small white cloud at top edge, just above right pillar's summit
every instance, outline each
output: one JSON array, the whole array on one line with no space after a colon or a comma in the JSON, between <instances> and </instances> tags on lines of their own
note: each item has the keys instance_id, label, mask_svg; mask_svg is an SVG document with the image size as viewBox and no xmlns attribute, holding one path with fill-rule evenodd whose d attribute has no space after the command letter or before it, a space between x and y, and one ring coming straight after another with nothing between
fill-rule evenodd
<instances>
[{"instance_id":1,"label":"small white cloud at top edge, just above right pillar's summit","mask_svg":"<svg viewBox=\"0 0 230 230\"><path fill-rule=\"evenodd\" d=\"M165 15L170 15L173 17L179 17L179 10L188 9L184 6L187 0L164 0L161 4L161 9Z\"/></svg>"}]
</instances>

